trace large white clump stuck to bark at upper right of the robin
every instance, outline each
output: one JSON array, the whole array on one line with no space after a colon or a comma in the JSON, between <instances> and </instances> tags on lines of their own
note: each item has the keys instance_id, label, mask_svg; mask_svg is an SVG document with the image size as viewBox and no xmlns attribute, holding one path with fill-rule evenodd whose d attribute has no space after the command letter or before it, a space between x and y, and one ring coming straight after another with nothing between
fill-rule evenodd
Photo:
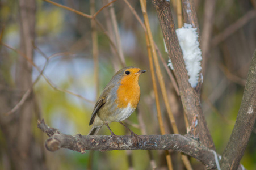
<instances>
[{"instance_id":1,"label":"large white clump stuck to bark at upper right of the robin","mask_svg":"<svg viewBox=\"0 0 256 170\"><path fill-rule=\"evenodd\" d=\"M198 84L199 73L202 69L202 52L199 48L198 33L191 24L184 23L182 28L176 29L176 33L181 46L183 58L188 72L188 82L192 87Z\"/></svg>"}]
</instances>

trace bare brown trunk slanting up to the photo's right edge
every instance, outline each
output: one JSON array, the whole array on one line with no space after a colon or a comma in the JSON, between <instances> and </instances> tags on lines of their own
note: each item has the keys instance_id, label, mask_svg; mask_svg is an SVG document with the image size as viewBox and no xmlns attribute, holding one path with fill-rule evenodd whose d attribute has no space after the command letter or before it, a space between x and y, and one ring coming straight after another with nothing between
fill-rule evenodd
<instances>
[{"instance_id":1,"label":"bare brown trunk slanting up to the photo's right edge","mask_svg":"<svg viewBox=\"0 0 256 170\"><path fill-rule=\"evenodd\" d=\"M221 169L237 169L249 142L256 118L256 51L249 68L244 96L237 114L236 124L223 156Z\"/></svg>"}]
</instances>

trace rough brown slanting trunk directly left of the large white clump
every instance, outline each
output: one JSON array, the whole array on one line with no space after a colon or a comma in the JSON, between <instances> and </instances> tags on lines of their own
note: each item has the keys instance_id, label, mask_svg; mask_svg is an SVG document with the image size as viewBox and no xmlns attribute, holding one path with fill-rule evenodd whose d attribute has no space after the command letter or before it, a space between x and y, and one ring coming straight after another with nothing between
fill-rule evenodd
<instances>
[{"instance_id":1,"label":"rough brown slanting trunk directly left of the large white clump","mask_svg":"<svg viewBox=\"0 0 256 170\"><path fill-rule=\"evenodd\" d=\"M160 20L169 58L173 63L174 75L178 82L183 109L188 117L190 126L192 126L191 133L198 135L200 141L205 146L214 149L215 146L202 113L199 93L200 87L198 85L194 89L191 87L190 83L188 83L187 70L185 67L182 50L179 46L175 32L169 2L153 0L153 5L156 8L157 15Z\"/></svg>"}]
</instances>

